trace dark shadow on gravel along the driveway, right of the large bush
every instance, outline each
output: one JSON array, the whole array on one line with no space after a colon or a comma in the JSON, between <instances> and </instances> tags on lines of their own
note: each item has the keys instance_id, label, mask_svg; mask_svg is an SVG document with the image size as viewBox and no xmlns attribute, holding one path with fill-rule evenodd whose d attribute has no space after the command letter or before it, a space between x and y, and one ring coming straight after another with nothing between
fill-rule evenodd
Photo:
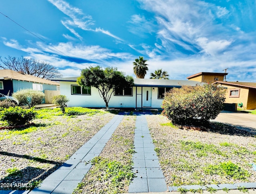
<instances>
[{"instance_id":1,"label":"dark shadow on gravel along the driveway, right of the large bush","mask_svg":"<svg viewBox=\"0 0 256 194\"><path fill-rule=\"evenodd\" d=\"M210 132L225 134L225 135L236 135L244 137L255 137L255 134L249 132L250 128L243 126L229 125L220 122L211 122L208 129Z\"/></svg>"}]
</instances>

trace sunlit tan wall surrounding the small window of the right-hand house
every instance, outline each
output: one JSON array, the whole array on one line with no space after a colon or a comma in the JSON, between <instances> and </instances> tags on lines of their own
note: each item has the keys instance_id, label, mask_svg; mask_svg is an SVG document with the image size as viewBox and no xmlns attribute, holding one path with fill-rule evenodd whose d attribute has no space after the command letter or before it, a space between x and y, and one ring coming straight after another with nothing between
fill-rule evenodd
<instances>
[{"instance_id":1,"label":"sunlit tan wall surrounding the small window of the right-hand house","mask_svg":"<svg viewBox=\"0 0 256 194\"><path fill-rule=\"evenodd\" d=\"M240 94L239 94L239 98L230 98L229 97L229 94L230 94L230 89L239 89L238 87L234 87L234 86L226 86L226 85L223 85L223 87L225 88L228 88L227 89L227 92L226 92L226 100L225 102L226 103L240 103L242 102L243 103L243 108L246 109L247 108L247 103L248 103L248 94L249 94L249 89L246 89L246 88L240 88Z\"/></svg>"}]
</instances>

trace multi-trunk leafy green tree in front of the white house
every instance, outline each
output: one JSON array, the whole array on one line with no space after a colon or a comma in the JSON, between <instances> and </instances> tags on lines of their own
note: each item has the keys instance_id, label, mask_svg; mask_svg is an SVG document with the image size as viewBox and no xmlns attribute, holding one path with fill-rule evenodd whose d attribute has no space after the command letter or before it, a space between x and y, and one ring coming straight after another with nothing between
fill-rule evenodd
<instances>
[{"instance_id":1,"label":"multi-trunk leafy green tree in front of the white house","mask_svg":"<svg viewBox=\"0 0 256 194\"><path fill-rule=\"evenodd\" d=\"M107 110L109 110L108 102L115 88L129 88L134 84L132 76L124 76L124 73L119 72L117 68L107 67L103 70L100 66L83 69L77 82L80 86L97 88Z\"/></svg>"}]
</instances>

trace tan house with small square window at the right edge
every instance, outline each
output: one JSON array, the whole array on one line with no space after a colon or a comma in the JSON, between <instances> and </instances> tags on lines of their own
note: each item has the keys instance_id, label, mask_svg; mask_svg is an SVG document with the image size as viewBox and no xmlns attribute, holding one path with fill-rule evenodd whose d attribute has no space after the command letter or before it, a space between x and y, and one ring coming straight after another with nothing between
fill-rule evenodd
<instances>
[{"instance_id":1,"label":"tan house with small square window at the right edge","mask_svg":"<svg viewBox=\"0 0 256 194\"><path fill-rule=\"evenodd\" d=\"M225 103L242 103L244 109L256 109L256 83L254 82L214 82L227 88Z\"/></svg>"}]
</instances>

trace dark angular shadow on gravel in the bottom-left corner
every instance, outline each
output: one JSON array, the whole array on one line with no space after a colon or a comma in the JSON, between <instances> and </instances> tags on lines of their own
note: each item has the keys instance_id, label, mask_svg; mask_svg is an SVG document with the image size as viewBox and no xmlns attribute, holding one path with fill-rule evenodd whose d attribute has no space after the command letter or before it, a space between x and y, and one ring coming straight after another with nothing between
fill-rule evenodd
<instances>
[{"instance_id":1,"label":"dark angular shadow on gravel in the bottom-left corner","mask_svg":"<svg viewBox=\"0 0 256 194\"><path fill-rule=\"evenodd\" d=\"M54 164L54 167L49 170L44 170L41 168L35 168L31 166L27 166L21 170L16 170L16 168L12 168L11 172L4 178L0 180L1 185L6 185L8 187L0 187L0 190L26 190L31 188L31 184L36 181L44 180L47 176L49 176L54 170L56 170L62 163L46 160L39 157L33 157L28 155L15 154L10 152L0 152L0 155L12 156L17 158L25 158L28 160L34 160L36 162L40 162L43 164ZM12 186L4 184L4 183L12 183ZM23 185L22 185L23 183ZM27 185L26 185L27 184Z\"/></svg>"}]
</instances>

